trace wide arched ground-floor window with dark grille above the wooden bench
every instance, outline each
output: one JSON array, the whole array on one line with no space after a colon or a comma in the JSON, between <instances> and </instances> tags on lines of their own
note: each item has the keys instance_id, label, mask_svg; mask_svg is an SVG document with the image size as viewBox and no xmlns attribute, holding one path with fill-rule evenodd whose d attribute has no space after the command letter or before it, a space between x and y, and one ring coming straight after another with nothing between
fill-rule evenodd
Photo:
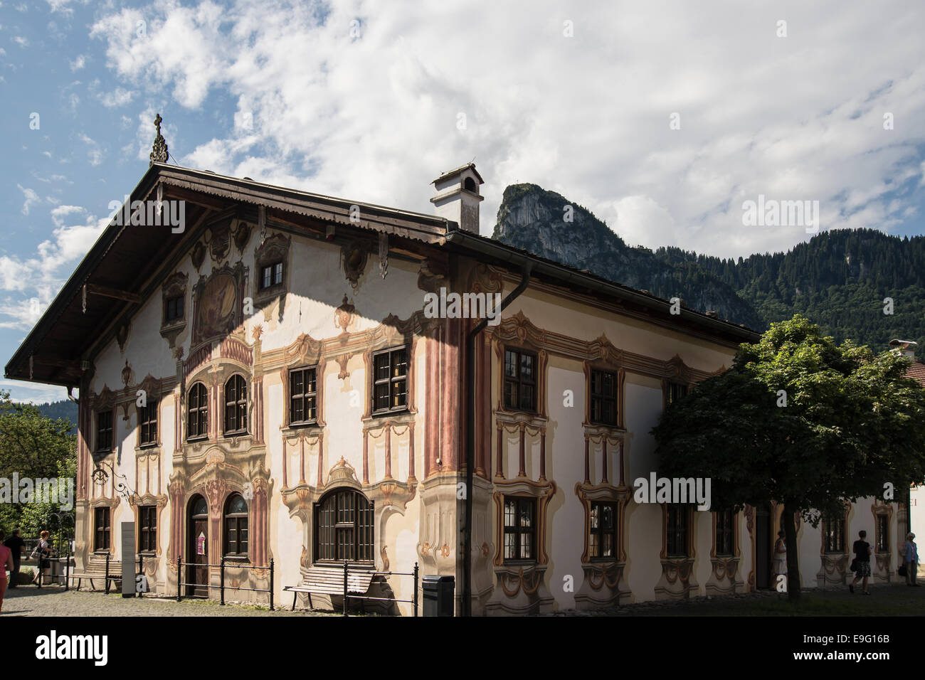
<instances>
[{"instance_id":1,"label":"wide arched ground-floor window with dark grille above the wooden bench","mask_svg":"<svg viewBox=\"0 0 925 680\"><path fill-rule=\"evenodd\" d=\"M373 504L351 488L314 504L315 562L373 562Z\"/></svg>"}]
</instances>

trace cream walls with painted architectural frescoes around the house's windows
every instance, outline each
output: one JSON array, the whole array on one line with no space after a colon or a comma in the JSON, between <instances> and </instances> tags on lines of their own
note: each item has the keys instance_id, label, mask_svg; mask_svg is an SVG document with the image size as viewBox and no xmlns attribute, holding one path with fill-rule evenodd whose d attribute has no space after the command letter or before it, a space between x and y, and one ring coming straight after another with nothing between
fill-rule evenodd
<instances>
[{"instance_id":1,"label":"cream walls with painted architectural frescoes around the house's windows","mask_svg":"<svg viewBox=\"0 0 925 680\"><path fill-rule=\"evenodd\" d=\"M159 284L129 323L107 332L80 389L78 568L105 560L94 549L93 511L109 508L113 527L156 508L154 550L144 570L159 592L175 594L177 560L194 544L187 509L207 501L207 553L223 552L222 513L232 494L246 495L248 563L229 568L227 583L265 588L273 560L276 600L299 583L314 558L314 503L336 488L364 494L373 507L374 566L381 571L456 576L462 598L464 480L464 319L429 319L424 292L465 281L464 290L508 292L517 279L489 266L417 250L392 253L379 266L376 239L349 244L310 239L259 216L224 216L205 224L191 252ZM388 253L388 242L387 242ZM274 290L257 285L262 266L284 263ZM166 301L186 296L184 312L165 322ZM253 312L249 310L253 305ZM407 349L407 408L372 413L375 353ZM505 406L504 352L536 356L536 409ZM670 382L695 386L730 365L734 348L683 335L574 291L535 282L488 327L475 347L475 487L473 611L548 612L611 607L660 598L742 592L755 587L754 513L734 517L734 553L715 550L713 513L691 513L686 558L665 551L665 514L632 498L636 476L657 469L649 430ZM290 371L314 366L317 418L292 424ZM590 373L618 380L618 419L592 422ZM247 431L226 436L226 384L244 378ZM188 434L189 390L202 383L208 404L203 437ZM157 439L138 441L137 392L158 406ZM566 405L563 394L573 393ZM96 451L101 411L113 415L113 450ZM98 467L109 470L94 476ZM105 477L105 478L104 478ZM119 485L122 485L120 488ZM532 500L535 557L505 558L505 498ZM616 544L606 559L589 548L592 504L615 508ZM858 501L863 505L863 501ZM898 513L870 502L846 522L873 535L875 517L894 526ZM804 583L844 580L837 560L816 552L820 532L800 525ZM117 536L117 532L113 534ZM853 539L853 538L852 538ZM109 553L120 557L114 540ZM893 544L895 546L895 543ZM895 550L895 548L894 548ZM210 557L210 563L212 559ZM889 578L891 554L878 556ZM829 567L833 568L830 569ZM217 597L218 570L208 583ZM410 600L410 580L389 578L395 597ZM238 599L265 594L239 591ZM302 597L302 596L300 596ZM329 599L315 599L322 606ZM408 605L387 608L409 613Z\"/></svg>"}]
</instances>

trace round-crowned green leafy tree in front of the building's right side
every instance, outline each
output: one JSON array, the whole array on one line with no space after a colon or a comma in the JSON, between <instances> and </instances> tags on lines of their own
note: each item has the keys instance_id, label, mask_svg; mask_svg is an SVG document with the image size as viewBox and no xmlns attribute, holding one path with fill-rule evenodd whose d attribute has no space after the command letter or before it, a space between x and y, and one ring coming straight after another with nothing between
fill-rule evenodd
<instances>
[{"instance_id":1,"label":"round-crowned green leafy tree in front of the building's right side","mask_svg":"<svg viewBox=\"0 0 925 680\"><path fill-rule=\"evenodd\" d=\"M849 501L883 498L887 483L925 479L925 389L907 365L836 345L800 315L772 324L666 409L653 429L659 474L710 477L713 507L783 503L787 592L798 600L796 513L815 526Z\"/></svg>"}]
</instances>

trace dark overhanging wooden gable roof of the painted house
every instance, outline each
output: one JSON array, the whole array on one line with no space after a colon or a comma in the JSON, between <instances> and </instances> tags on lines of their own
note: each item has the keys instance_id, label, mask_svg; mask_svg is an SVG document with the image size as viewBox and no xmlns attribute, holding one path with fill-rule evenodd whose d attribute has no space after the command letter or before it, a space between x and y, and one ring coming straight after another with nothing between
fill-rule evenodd
<instances>
[{"instance_id":1,"label":"dark overhanging wooden gable roof of the painted house","mask_svg":"<svg viewBox=\"0 0 925 680\"><path fill-rule=\"evenodd\" d=\"M470 165L451 170L443 177ZM101 332L127 314L129 305L141 303L152 294L150 282L176 266L179 261L177 253L189 252L199 240L200 227L204 223L240 211L252 211L254 217L249 221L256 222L256 211L260 206L265 209L267 219L296 227L304 226L305 218L308 218L318 224L343 225L348 229L372 230L419 241L515 271L529 263L534 272L531 276L545 278L570 290L578 287L586 294L616 299L628 311L638 311L636 315L662 326L719 339L729 346L755 341L759 337L749 328L686 308L682 315L670 316L671 303L654 295L462 231L455 222L444 217L163 163L154 163L148 168L131 192L129 204L153 200L158 186L162 187L164 200L185 201L186 225L183 232L174 234L169 225L122 225L114 216L7 362L7 378L78 386L84 372L81 357L93 349L100 340ZM355 211L357 207L358 222L351 219L351 209ZM292 216L302 218L293 219Z\"/></svg>"}]
</instances>

